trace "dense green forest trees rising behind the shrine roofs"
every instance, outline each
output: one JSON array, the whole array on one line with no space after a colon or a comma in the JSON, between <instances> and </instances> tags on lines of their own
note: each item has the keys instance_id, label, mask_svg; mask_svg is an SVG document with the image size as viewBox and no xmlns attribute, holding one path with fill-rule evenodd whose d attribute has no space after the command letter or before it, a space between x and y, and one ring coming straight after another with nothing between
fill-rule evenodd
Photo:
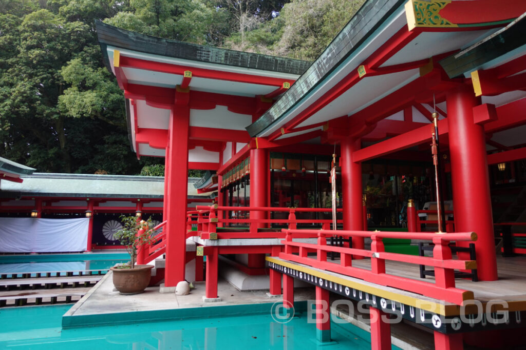
<instances>
[{"instance_id":1,"label":"dense green forest trees rising behind the shrine roofs","mask_svg":"<svg viewBox=\"0 0 526 350\"><path fill-rule=\"evenodd\" d=\"M315 59L363 0L1 0L0 155L38 172L155 175L130 150L123 92L94 20L140 33ZM146 167L145 167L146 166Z\"/></svg>"}]
</instances>

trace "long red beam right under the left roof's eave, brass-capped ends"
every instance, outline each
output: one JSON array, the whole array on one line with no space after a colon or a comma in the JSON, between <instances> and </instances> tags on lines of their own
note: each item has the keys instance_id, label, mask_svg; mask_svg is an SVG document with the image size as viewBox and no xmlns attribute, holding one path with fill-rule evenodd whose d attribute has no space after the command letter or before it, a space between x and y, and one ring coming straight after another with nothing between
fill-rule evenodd
<instances>
[{"instance_id":1,"label":"long red beam right under the left roof's eave, brass-capped ends","mask_svg":"<svg viewBox=\"0 0 526 350\"><path fill-rule=\"evenodd\" d=\"M185 70L188 70L189 68L187 66L173 65L171 63L164 62L148 61L139 58L126 57L122 55L120 56L120 66L176 75L184 75ZM279 79L265 76L250 75L245 73L234 73L196 67L191 67L191 72L194 78L198 77L207 79L228 80L278 87L282 86L284 82L290 81L290 79Z\"/></svg>"}]
</instances>

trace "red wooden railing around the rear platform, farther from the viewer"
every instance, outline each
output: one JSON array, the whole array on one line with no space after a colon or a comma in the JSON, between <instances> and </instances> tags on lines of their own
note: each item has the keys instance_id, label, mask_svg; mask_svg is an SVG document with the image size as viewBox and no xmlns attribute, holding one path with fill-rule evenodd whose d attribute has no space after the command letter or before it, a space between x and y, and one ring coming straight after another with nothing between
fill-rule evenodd
<instances>
[{"instance_id":1,"label":"red wooden railing around the rear platform, farther from the viewer","mask_svg":"<svg viewBox=\"0 0 526 350\"><path fill-rule=\"evenodd\" d=\"M187 237L198 236L202 239L228 239L228 238L285 238L284 232L280 229L267 231L269 224L286 224L289 229L296 229L298 224L310 224L330 229L332 219L297 219L296 213L330 213L330 208L280 208L280 207L224 207L224 206L196 206L197 210L187 212ZM229 219L218 217L220 211L238 211L244 213L253 213L263 211L270 217L270 213L288 213L287 219L259 219L250 216L242 219ZM341 212L342 209L337 209ZM338 220L341 223L342 220ZM197 230L191 230L192 225L197 224ZM222 224L222 225L221 225ZM224 227L224 231L218 232L217 227L225 224L248 224L248 232L235 232L236 227ZM264 229L264 232L261 232Z\"/></svg>"}]
</instances>

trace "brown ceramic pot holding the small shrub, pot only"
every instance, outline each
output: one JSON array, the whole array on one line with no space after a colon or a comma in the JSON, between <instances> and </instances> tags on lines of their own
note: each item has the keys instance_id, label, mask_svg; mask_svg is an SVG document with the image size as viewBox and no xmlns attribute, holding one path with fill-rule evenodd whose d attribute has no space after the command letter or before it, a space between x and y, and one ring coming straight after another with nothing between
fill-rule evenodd
<instances>
[{"instance_id":1,"label":"brown ceramic pot holding the small shrub, pot only","mask_svg":"<svg viewBox=\"0 0 526 350\"><path fill-rule=\"evenodd\" d=\"M135 269L110 268L113 271L113 284L120 294L138 294L148 287L151 265L137 265Z\"/></svg>"}]
</instances>

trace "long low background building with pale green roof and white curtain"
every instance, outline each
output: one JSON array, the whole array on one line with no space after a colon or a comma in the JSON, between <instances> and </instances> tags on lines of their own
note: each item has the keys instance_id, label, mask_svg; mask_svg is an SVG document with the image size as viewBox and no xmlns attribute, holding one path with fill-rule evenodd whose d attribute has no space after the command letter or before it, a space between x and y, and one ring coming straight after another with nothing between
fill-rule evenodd
<instances>
[{"instance_id":1,"label":"long low background building with pale green roof and white curtain","mask_svg":"<svg viewBox=\"0 0 526 350\"><path fill-rule=\"evenodd\" d=\"M4 158L0 158L0 163L0 174L5 174L0 175L0 221L15 219L15 226L11 228L2 221L4 237L13 237L16 241L16 236L24 235L16 225L19 218L66 219L62 221L65 225L67 219L86 218L88 221L82 228L69 229L65 237L50 234L55 244L42 248L45 250L17 246L14 241L9 244L7 239L0 242L2 253L124 249L113 235L122 227L121 215L151 217L157 224L163 220L162 177L34 173L33 168ZM189 178L187 183L188 209L214 203L209 194L198 193L198 188L206 187L205 181ZM57 221L60 220L54 222ZM67 239L68 235L82 236L82 245L60 247L59 240Z\"/></svg>"}]
</instances>

